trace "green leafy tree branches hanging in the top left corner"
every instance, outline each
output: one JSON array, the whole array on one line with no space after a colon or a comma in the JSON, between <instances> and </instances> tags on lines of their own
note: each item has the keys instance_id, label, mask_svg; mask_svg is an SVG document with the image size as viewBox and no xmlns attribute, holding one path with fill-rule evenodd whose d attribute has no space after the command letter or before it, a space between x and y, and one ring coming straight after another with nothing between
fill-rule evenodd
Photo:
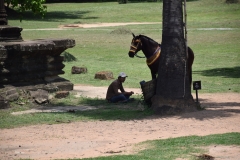
<instances>
[{"instance_id":1,"label":"green leafy tree branches hanging in the top left corner","mask_svg":"<svg viewBox=\"0 0 240 160\"><path fill-rule=\"evenodd\" d=\"M32 11L35 15L40 15L42 18L47 12L47 6L44 6L45 0L5 0L8 8L16 10L22 15L26 11Z\"/></svg>"}]
</instances>

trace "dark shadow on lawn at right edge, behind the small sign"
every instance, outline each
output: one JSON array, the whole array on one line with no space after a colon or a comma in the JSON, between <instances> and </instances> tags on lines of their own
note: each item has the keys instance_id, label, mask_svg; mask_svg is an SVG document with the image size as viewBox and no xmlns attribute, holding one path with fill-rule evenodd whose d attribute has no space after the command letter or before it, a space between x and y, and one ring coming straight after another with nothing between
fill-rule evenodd
<instances>
[{"instance_id":1,"label":"dark shadow on lawn at right edge, behind the small sign","mask_svg":"<svg viewBox=\"0 0 240 160\"><path fill-rule=\"evenodd\" d=\"M240 66L232 68L214 68L204 71L193 71L193 74L201 74L203 76L218 76L224 78L240 78Z\"/></svg>"}]
</instances>

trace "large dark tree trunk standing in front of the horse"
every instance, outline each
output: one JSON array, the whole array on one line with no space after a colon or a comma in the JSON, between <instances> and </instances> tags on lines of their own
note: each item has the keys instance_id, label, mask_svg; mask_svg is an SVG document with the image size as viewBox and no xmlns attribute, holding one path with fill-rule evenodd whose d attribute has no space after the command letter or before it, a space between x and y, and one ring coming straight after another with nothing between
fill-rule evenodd
<instances>
[{"instance_id":1,"label":"large dark tree trunk standing in front of the horse","mask_svg":"<svg viewBox=\"0 0 240 160\"><path fill-rule=\"evenodd\" d=\"M194 106L187 72L182 0L163 0L162 53L152 107L160 114L174 114L194 110Z\"/></svg>"}]
</instances>

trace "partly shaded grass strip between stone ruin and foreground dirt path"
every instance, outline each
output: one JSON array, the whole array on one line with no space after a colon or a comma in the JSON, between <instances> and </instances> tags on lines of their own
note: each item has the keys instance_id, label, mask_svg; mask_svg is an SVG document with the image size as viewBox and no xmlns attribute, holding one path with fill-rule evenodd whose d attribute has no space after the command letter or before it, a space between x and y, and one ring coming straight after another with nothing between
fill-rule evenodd
<instances>
[{"instance_id":1,"label":"partly shaded grass strip between stone ruin and foreground dirt path","mask_svg":"<svg viewBox=\"0 0 240 160\"><path fill-rule=\"evenodd\" d=\"M25 111L36 108L35 104L25 102L25 105L12 104L11 108L1 110L0 112L0 129L14 128L20 126L29 126L37 124L58 124L68 123L74 121L94 121L94 120L133 120L144 119L152 115L147 105L142 104L139 106L140 95L134 95L136 101L127 104L113 104L108 103L104 99L88 98L88 97L75 97L71 93L64 99L52 99L45 108L57 106L71 106L80 108L81 106L95 106L98 109L85 110L75 112L50 112L50 113L29 113L22 115L13 115L13 112Z\"/></svg>"}]
</instances>

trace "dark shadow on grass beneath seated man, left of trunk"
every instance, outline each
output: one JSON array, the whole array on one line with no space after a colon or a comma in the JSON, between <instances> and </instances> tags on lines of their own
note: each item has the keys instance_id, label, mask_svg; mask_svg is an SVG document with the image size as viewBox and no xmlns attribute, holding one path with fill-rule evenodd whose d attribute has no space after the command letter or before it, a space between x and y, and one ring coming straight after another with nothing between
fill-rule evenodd
<instances>
[{"instance_id":1,"label":"dark shadow on grass beneath seated man, left of trunk","mask_svg":"<svg viewBox=\"0 0 240 160\"><path fill-rule=\"evenodd\" d=\"M66 106L65 102L55 103L54 106ZM68 106L66 106L68 107ZM87 109L89 107L89 110ZM76 119L92 120L135 120L144 119L152 115L152 110L147 106L139 107L139 101L129 103L109 103L105 99L83 98L81 103L69 107L73 112L49 113L49 114L70 114ZM70 110L70 111L71 111Z\"/></svg>"}]
</instances>

